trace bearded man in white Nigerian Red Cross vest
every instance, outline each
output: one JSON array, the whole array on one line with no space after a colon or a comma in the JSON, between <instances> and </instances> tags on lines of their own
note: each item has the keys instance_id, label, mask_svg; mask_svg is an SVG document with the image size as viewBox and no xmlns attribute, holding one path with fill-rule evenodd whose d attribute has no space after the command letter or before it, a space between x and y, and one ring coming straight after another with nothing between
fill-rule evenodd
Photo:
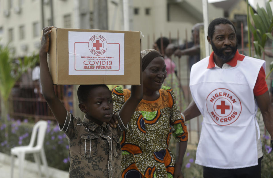
<instances>
[{"instance_id":1,"label":"bearded man in white Nigerian Red Cross vest","mask_svg":"<svg viewBox=\"0 0 273 178\"><path fill-rule=\"evenodd\" d=\"M273 136L265 61L239 54L235 27L227 19L209 24L207 40L213 52L193 65L193 102L183 112L185 120L203 115L195 163L203 166L204 178L261 177L258 107Z\"/></svg>"}]
</instances>

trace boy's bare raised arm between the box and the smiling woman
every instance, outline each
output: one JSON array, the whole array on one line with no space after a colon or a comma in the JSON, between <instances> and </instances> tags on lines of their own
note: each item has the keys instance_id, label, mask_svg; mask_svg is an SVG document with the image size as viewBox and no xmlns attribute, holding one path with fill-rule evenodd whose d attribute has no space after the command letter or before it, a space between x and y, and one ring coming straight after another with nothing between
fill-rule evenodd
<instances>
[{"instance_id":1,"label":"boy's bare raised arm between the box and the smiling woman","mask_svg":"<svg viewBox=\"0 0 273 178\"><path fill-rule=\"evenodd\" d=\"M129 99L124 103L119 111L119 116L124 125L126 125L135 109L137 108L138 103L143 98L143 78L142 78L142 58L140 55L140 85L132 85L131 87L131 96Z\"/></svg>"}]
</instances>

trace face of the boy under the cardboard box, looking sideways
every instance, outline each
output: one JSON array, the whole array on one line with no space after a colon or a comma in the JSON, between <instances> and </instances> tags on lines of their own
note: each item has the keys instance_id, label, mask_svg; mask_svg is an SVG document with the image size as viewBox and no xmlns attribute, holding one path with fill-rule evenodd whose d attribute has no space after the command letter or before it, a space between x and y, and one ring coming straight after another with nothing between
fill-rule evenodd
<instances>
[{"instance_id":1,"label":"face of the boy under the cardboard box, looking sideways","mask_svg":"<svg viewBox=\"0 0 273 178\"><path fill-rule=\"evenodd\" d=\"M80 103L79 107L93 122L99 125L109 122L113 115L111 92L106 87L94 88L89 92L86 103Z\"/></svg>"}]
</instances>

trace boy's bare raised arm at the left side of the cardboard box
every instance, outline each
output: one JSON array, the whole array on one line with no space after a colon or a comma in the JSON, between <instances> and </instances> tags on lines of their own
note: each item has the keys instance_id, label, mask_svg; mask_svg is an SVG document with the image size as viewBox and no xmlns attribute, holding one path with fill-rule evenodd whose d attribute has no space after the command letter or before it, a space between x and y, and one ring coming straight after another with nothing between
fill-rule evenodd
<instances>
[{"instance_id":1,"label":"boy's bare raised arm at the left side of the cardboard box","mask_svg":"<svg viewBox=\"0 0 273 178\"><path fill-rule=\"evenodd\" d=\"M53 81L49 73L46 54L49 50L49 34L53 26L48 26L43 29L43 36L41 38L41 48L39 52L40 57L40 78L42 85L42 92L46 99L49 108L53 112L57 122L63 126L67 116L67 111L61 101L57 98L53 88Z\"/></svg>"}]
</instances>

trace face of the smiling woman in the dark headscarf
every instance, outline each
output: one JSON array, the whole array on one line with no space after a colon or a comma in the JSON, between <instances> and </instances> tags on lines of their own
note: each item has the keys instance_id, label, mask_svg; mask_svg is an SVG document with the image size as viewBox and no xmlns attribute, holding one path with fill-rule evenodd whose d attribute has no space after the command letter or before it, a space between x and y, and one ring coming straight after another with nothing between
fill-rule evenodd
<instances>
[{"instance_id":1,"label":"face of the smiling woman in the dark headscarf","mask_svg":"<svg viewBox=\"0 0 273 178\"><path fill-rule=\"evenodd\" d=\"M143 71L143 87L149 91L158 91L167 77L164 58L154 58Z\"/></svg>"}]
</instances>

